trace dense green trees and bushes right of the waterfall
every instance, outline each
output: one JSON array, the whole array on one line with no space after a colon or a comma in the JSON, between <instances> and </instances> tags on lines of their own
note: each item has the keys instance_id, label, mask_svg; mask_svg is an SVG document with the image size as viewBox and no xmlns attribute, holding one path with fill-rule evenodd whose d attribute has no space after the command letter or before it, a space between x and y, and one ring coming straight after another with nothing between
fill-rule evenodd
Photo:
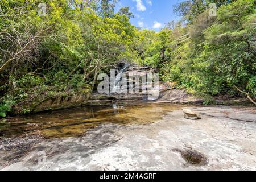
<instances>
[{"instance_id":1,"label":"dense green trees and bushes right of the waterfall","mask_svg":"<svg viewBox=\"0 0 256 182\"><path fill-rule=\"evenodd\" d=\"M179 11L192 10L193 3L199 5L200 1L189 1L189 6L185 3L180 4ZM184 14L189 20L186 27L171 26L172 39L167 43L171 51L161 68L162 79L212 96L234 95L234 85L254 95L256 5L253 0L218 3L217 18L209 17L205 8L200 13Z\"/></svg>"}]
</instances>

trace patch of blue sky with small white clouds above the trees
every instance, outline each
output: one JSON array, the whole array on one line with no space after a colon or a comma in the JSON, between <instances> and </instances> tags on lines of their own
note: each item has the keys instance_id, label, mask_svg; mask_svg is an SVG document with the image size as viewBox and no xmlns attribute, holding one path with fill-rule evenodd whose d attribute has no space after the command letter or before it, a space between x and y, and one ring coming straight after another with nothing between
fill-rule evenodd
<instances>
[{"instance_id":1,"label":"patch of blue sky with small white clouds above the trees","mask_svg":"<svg viewBox=\"0 0 256 182\"><path fill-rule=\"evenodd\" d=\"M134 26L159 31L165 23L179 20L172 7L181 0L119 0L116 11L120 7L129 6L135 18L130 22Z\"/></svg>"}]
</instances>

